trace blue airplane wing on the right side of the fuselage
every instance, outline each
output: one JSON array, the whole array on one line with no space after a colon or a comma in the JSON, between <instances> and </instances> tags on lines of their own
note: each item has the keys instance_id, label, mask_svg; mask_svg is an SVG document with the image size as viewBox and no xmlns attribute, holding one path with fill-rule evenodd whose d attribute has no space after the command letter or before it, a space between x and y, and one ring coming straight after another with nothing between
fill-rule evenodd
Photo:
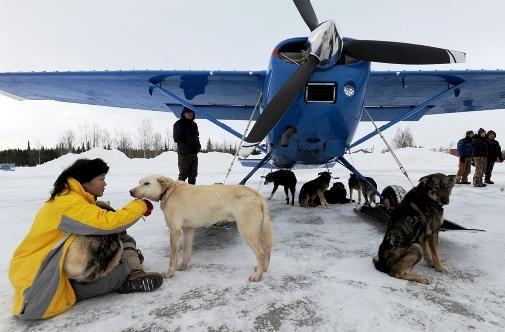
<instances>
[{"instance_id":1,"label":"blue airplane wing on the right side of the fuselage","mask_svg":"<svg viewBox=\"0 0 505 332\"><path fill-rule=\"evenodd\" d=\"M371 72L365 107L374 121L390 121L459 83L464 83L459 92L455 90L405 121L430 114L505 109L503 70ZM370 121L366 113L361 121Z\"/></svg>"}]
</instances>

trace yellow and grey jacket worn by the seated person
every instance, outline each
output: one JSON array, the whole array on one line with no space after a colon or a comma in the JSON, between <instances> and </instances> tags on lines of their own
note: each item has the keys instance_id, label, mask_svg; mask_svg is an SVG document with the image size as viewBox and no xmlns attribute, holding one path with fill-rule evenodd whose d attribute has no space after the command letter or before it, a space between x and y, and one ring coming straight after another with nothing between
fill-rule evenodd
<instances>
[{"instance_id":1,"label":"yellow and grey jacket worn by the seated person","mask_svg":"<svg viewBox=\"0 0 505 332\"><path fill-rule=\"evenodd\" d=\"M35 216L30 231L14 251L9 280L14 287L14 315L40 319L57 315L76 301L63 271L68 247L77 235L119 233L146 212L135 199L117 211L96 206L93 195L69 178L69 191L46 202Z\"/></svg>"}]
</instances>

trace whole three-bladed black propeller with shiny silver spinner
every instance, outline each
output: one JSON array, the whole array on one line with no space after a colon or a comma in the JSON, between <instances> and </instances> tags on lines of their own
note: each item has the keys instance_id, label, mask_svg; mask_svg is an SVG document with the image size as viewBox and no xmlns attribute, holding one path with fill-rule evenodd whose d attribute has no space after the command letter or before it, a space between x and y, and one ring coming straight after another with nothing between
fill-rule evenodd
<instances>
[{"instance_id":1,"label":"whole three-bladed black propeller with shiny silver spinner","mask_svg":"<svg viewBox=\"0 0 505 332\"><path fill-rule=\"evenodd\" d=\"M316 67L335 65L342 56L357 60L407 65L459 63L465 53L438 47L379 40L342 41L333 21L319 23L310 0L293 0L311 35L307 61L284 83L244 139L244 147L259 144L288 111Z\"/></svg>"}]
</instances>

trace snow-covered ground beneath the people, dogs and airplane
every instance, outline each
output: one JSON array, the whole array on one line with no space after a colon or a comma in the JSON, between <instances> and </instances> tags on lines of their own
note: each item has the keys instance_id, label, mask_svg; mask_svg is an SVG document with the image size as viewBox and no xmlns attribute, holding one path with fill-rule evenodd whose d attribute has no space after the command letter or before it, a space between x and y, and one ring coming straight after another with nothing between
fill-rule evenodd
<instances>
[{"instance_id":1,"label":"snow-covered ground beneath the people, dogs and airplane","mask_svg":"<svg viewBox=\"0 0 505 332\"><path fill-rule=\"evenodd\" d=\"M423 149L397 154L414 183L426 174L454 174L457 159ZM258 283L247 281L255 264L235 228L196 233L187 271L147 294L109 294L76 304L54 318L32 323L11 316L12 289L7 277L11 255L49 195L63 168L78 157L101 157L110 165L105 200L115 207L129 201L128 190L150 173L177 175L173 152L150 160L130 160L118 151L95 149L67 155L33 168L0 173L0 330L2 331L498 331L505 330L505 166L495 166L496 184L456 186L445 216L486 232L440 235L449 269L441 274L424 263L414 271L433 278L431 285L406 282L376 271L376 254L385 231L353 212L353 204L303 209L286 206L280 188L269 201L273 222L271 265ZM231 155L200 154L200 184L223 182ZM382 190L389 184L411 188L389 154L353 154L348 160ZM227 183L247 173L238 163ZM319 169L297 170L298 188ZM248 185L267 197L258 171ZM347 183L349 172L332 169ZM198 208L198 202L195 202ZM155 209L130 228L145 267L168 266L168 229Z\"/></svg>"}]
</instances>

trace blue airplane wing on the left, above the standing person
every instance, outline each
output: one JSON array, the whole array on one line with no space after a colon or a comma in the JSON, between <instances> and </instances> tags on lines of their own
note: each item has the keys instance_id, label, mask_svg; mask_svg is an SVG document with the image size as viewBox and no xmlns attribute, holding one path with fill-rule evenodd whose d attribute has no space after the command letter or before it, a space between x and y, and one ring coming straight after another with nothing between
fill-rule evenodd
<instances>
[{"instance_id":1,"label":"blue airplane wing on the left, above the standing person","mask_svg":"<svg viewBox=\"0 0 505 332\"><path fill-rule=\"evenodd\" d=\"M265 71L96 71L0 73L0 94L30 100L172 111L181 106L161 86L221 120L249 120L263 90ZM257 112L256 114L258 114Z\"/></svg>"}]
</instances>

